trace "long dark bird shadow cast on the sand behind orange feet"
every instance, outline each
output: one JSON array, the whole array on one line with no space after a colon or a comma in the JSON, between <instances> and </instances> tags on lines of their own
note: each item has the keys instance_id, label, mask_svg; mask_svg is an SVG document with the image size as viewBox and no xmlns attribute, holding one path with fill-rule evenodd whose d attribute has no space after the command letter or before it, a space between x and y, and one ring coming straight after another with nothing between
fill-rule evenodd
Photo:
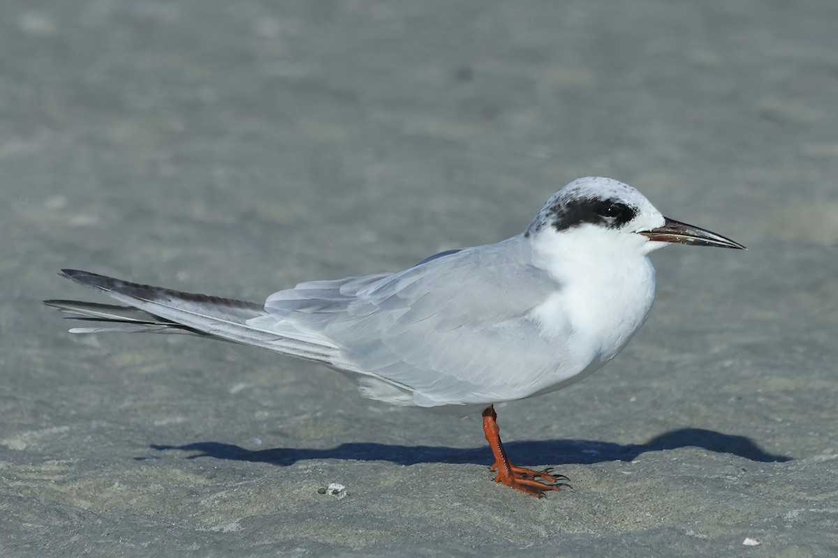
<instances>
[{"instance_id":1,"label":"long dark bird shadow cast on the sand behind orange feet","mask_svg":"<svg viewBox=\"0 0 838 558\"><path fill-rule=\"evenodd\" d=\"M761 463L783 463L792 458L768 453L750 438L723 434L701 428L681 428L651 438L647 443L619 444L597 440L561 439L504 443L515 463L551 465L591 464L607 461L632 461L641 453L675 448L704 448L714 453L730 453ZM158 451L180 450L199 452L194 458L216 458L251 461L288 466L310 459L350 459L356 461L390 461L400 465L416 463L474 463L492 461L488 446L451 448L448 446L402 446L384 443L342 443L335 448L273 448L250 450L231 443L196 442L182 446L152 444ZM148 458L136 458L138 460Z\"/></svg>"}]
</instances>

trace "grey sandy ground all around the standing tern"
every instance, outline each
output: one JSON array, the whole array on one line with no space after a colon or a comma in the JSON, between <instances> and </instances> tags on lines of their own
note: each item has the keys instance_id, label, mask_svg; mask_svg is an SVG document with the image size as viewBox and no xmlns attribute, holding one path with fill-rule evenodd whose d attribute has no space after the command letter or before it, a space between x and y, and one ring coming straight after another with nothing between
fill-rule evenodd
<instances>
[{"instance_id":1,"label":"grey sandy ground all around the standing tern","mask_svg":"<svg viewBox=\"0 0 838 558\"><path fill-rule=\"evenodd\" d=\"M5 0L10 555L75 554L68 533L94 554L374 554L418 540L722 551L757 531L775 548L835 550L836 24L831 0ZM656 308L623 356L499 408L504 439L533 442L522 464L567 463L581 481L549 499L561 511L494 490L476 421L368 402L339 375L243 347L75 338L40 305L88 294L63 267L256 301L403 269L520 233L588 175L751 249L655 253ZM671 433L671 447L650 442ZM194 443L222 445L203 458L153 448ZM341 443L362 446L329 453ZM617 474L638 445L649 474ZM242 479L254 492L233 498ZM323 504L331 480L355 504ZM831 514L787 517L821 505Z\"/></svg>"}]
</instances>

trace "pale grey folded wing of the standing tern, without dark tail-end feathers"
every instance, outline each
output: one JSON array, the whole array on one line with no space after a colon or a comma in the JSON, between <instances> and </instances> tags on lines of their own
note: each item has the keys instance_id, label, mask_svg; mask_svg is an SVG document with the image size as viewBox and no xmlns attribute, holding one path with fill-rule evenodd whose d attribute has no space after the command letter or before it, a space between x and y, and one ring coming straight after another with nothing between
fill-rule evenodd
<instances>
[{"instance_id":1,"label":"pale grey folded wing of the standing tern, without dark tail-end feathers","mask_svg":"<svg viewBox=\"0 0 838 558\"><path fill-rule=\"evenodd\" d=\"M416 405L498 402L555 374L561 348L531 311L558 286L515 237L397 274L298 284L272 294L267 315L248 324L323 335L339 348L337 367L411 392Z\"/></svg>"}]
</instances>

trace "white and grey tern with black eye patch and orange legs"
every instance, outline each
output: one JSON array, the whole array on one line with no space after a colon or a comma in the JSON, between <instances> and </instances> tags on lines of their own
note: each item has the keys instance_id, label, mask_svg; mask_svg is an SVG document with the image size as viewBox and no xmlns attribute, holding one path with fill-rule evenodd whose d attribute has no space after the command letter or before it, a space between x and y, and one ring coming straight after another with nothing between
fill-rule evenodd
<instances>
[{"instance_id":1,"label":"white and grey tern with black eye patch and orange legs","mask_svg":"<svg viewBox=\"0 0 838 558\"><path fill-rule=\"evenodd\" d=\"M744 249L665 218L633 187L587 177L556 192L523 233L449 250L397 273L310 281L264 304L64 269L122 305L45 300L72 333L181 333L258 346L343 372L371 399L482 412L495 481L539 497L566 486L516 467L494 404L567 387L632 339L654 300L648 254L667 243Z\"/></svg>"}]
</instances>

